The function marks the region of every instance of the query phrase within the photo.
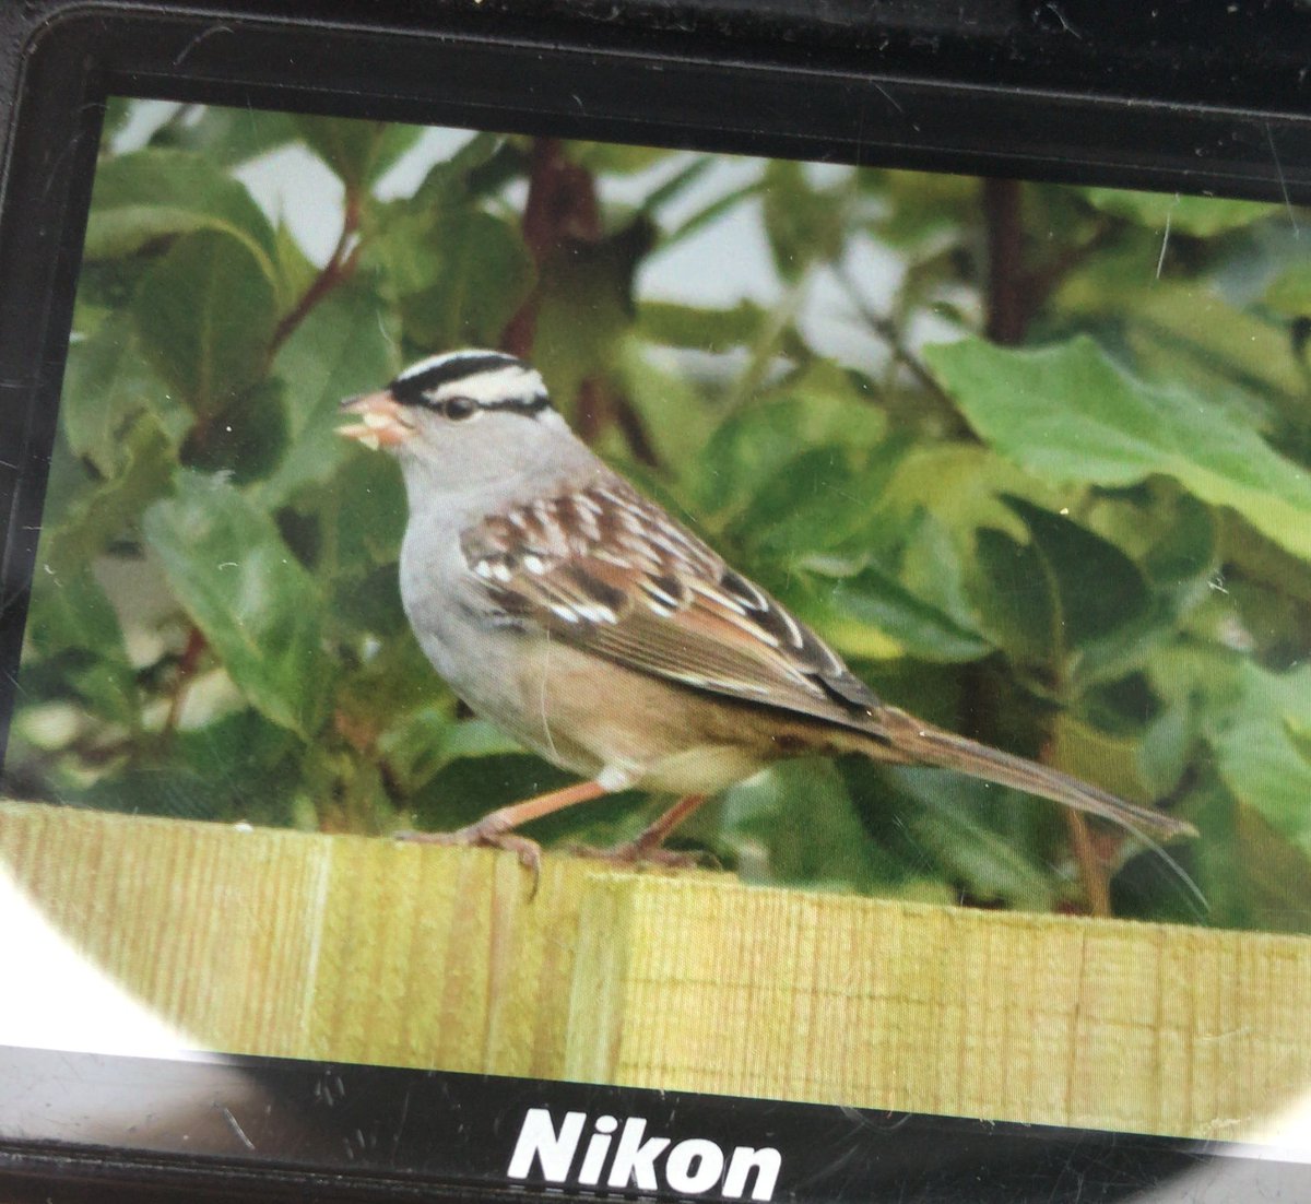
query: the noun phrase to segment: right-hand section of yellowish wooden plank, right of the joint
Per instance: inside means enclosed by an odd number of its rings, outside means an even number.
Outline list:
[[[1311,1082],[1311,940],[586,887],[569,1078],[1236,1138]]]

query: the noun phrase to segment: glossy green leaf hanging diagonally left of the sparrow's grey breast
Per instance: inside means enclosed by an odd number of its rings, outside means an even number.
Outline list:
[[[261,713],[313,733],[332,686],[317,584],[269,515],[222,479],[186,472],[143,521],[174,594]]]

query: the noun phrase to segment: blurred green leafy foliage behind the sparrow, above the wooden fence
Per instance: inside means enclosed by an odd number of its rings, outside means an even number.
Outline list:
[[[111,106],[7,792],[383,834],[561,784],[430,670],[399,473],[334,434],[410,359],[502,346],[884,696],[1202,833],[1171,864],[805,761],[684,845],[753,881],[1311,931],[1301,211],[490,134],[416,173],[427,136]],[[286,194],[333,230],[313,256],[246,182],[288,148],[330,172]],[[767,283],[721,303],[725,244]],[[603,845],[663,801],[528,830]]]

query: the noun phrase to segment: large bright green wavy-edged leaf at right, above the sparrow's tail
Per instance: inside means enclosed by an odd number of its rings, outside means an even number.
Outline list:
[[[974,429],[1023,468],[1100,485],[1171,476],[1311,557],[1303,468],[1201,397],[1129,376],[1092,340],[1041,350],[964,340],[924,355]]]

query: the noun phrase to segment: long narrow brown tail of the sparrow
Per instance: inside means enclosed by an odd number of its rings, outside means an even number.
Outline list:
[[[1197,835],[1197,829],[1185,820],[1126,803],[1108,791],[1062,774],[1061,770],[935,728],[895,707],[880,708],[871,727],[878,750],[867,748],[865,752],[878,759],[958,770],[1100,816],[1138,834],[1146,832],[1160,839]]]

